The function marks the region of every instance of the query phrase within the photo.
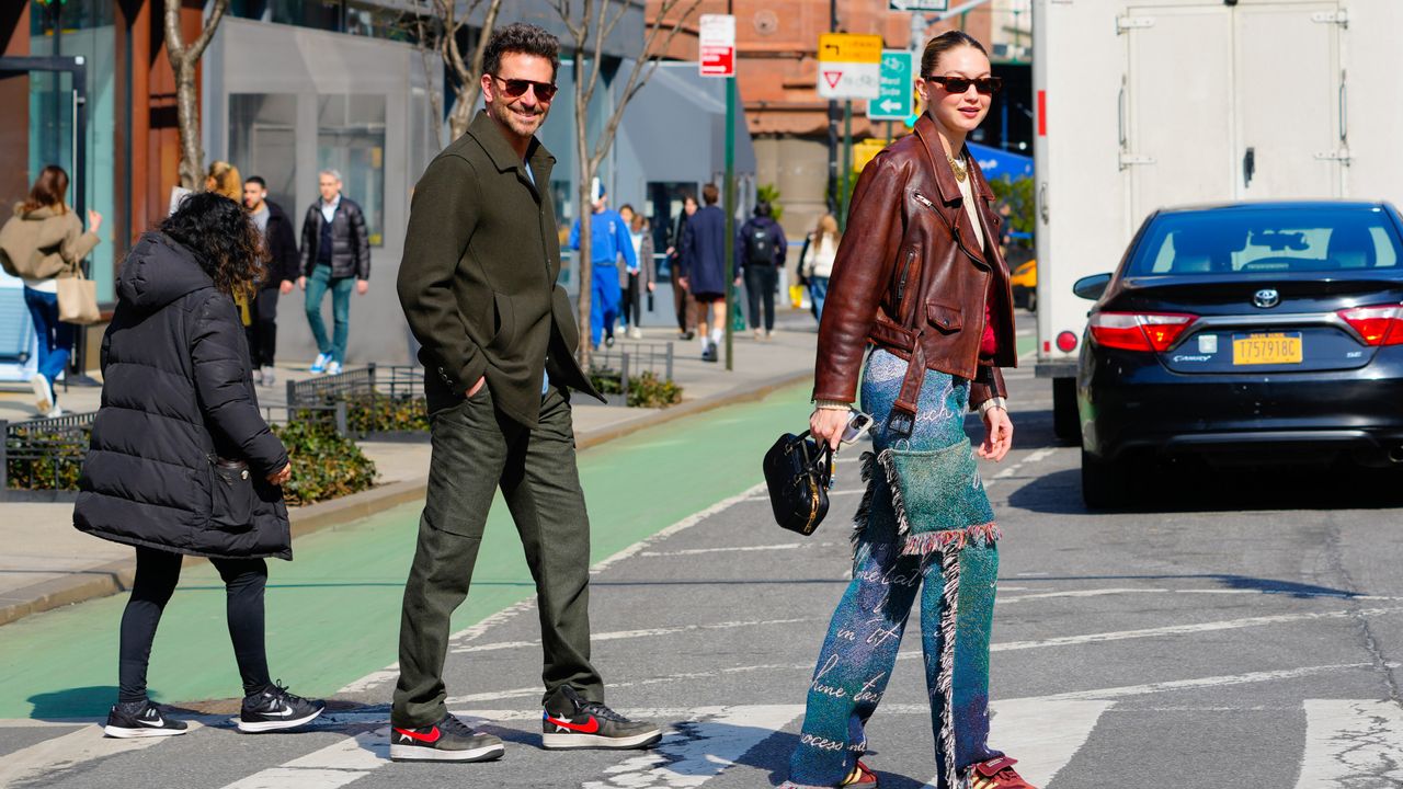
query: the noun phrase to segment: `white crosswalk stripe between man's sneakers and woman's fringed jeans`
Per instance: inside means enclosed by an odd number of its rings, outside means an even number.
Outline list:
[[[687,789],[716,778],[751,748],[804,713],[803,705],[738,706],[702,722],[683,723],[652,752],[605,771],[584,789]]]

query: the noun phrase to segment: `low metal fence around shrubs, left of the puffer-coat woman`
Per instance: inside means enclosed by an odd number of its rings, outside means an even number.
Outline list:
[[[3,421],[0,491],[14,498],[18,490],[77,490],[83,459],[97,411],[53,418]]]

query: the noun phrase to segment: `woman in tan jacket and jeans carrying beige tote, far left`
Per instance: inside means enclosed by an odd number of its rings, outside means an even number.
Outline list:
[[[4,270],[24,279],[24,303],[38,336],[38,371],[29,379],[35,410],[45,417],[63,416],[53,382],[73,354],[73,324],[59,320],[59,277],[81,275],[79,265],[98,244],[102,215],[88,211],[88,230],[63,202],[69,174],[49,164],[39,171],[29,198],[0,227],[0,260]],[[95,306],[95,302],[94,302]]]

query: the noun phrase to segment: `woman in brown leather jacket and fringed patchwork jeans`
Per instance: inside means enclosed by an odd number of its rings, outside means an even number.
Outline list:
[[[964,143],[999,80],[984,46],[958,31],[932,39],[920,65],[927,111],[863,170],[819,324],[810,428],[838,446],[861,372],[877,455],[863,456],[853,581],[819,653],[786,788],[877,786],[859,761],[864,727],[919,599],[936,785],[1031,789],[986,741],[999,531],[974,456],[1009,452],[999,366],[1016,352],[993,194]],[[967,409],[984,418],[978,451]]]

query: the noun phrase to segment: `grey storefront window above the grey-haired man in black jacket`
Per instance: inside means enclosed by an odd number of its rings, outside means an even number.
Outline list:
[[[341,194],[365,211],[370,244],[384,243],[384,97],[317,97],[317,168],[341,173]]]

